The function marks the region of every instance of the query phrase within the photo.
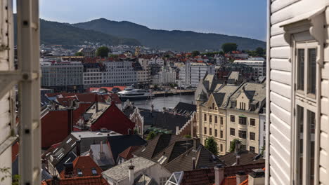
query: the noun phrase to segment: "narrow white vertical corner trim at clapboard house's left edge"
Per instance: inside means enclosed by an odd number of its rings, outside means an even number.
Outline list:
[[[271,0],[267,0],[267,32],[266,32],[266,160],[265,184],[269,184],[269,123],[270,123],[270,53],[271,53]]]

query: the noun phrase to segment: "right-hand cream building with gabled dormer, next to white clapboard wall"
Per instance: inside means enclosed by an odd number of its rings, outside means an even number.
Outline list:
[[[265,106],[265,88],[261,83],[243,83],[232,92],[226,107],[226,151],[233,139],[240,141],[242,149],[253,153],[262,151],[264,128],[259,114]]]

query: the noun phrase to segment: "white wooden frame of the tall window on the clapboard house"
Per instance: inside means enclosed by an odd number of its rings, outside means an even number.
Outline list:
[[[293,153],[293,180],[295,181],[295,184],[303,184],[307,185],[309,184],[310,181],[310,161],[305,160],[309,158],[309,151],[310,151],[310,146],[309,146],[309,123],[308,123],[308,111],[314,112],[315,114],[315,119],[316,119],[316,125],[315,125],[315,144],[314,144],[314,184],[318,184],[318,160],[319,160],[319,139],[316,139],[319,137],[319,124],[320,121],[318,120],[318,114],[319,112],[317,111],[317,101],[316,99],[316,94],[310,94],[307,93],[308,91],[308,83],[309,80],[307,78],[307,74],[309,73],[309,49],[315,48],[316,49],[316,57],[320,55],[320,50],[321,48],[319,47],[319,44],[314,41],[293,41],[294,42],[294,55],[292,62],[293,66],[293,71],[292,71],[292,76],[293,76],[293,82],[294,82],[294,90],[293,90],[293,97],[292,100],[294,100],[293,105],[294,105],[294,118],[293,118],[293,138],[292,138],[292,146],[294,146],[294,153]],[[304,90],[297,90],[297,69],[298,69],[298,49],[304,49]],[[321,70],[320,65],[318,62],[316,62],[316,91],[320,90],[318,87],[318,81],[321,80],[318,78],[319,70]],[[303,170],[302,170],[302,182],[299,181],[299,119],[297,118],[297,106],[303,108]]]

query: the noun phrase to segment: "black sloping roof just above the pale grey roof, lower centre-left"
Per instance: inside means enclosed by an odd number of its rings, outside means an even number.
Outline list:
[[[138,135],[117,135],[109,137],[108,144],[114,160],[117,160],[119,154],[129,146],[141,146],[146,144],[146,141]]]

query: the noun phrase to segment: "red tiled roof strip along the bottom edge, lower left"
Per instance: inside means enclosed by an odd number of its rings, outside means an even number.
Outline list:
[[[89,177],[72,177],[67,179],[58,179],[60,185],[108,185],[101,175]],[[42,181],[41,185],[51,185],[51,179]]]

